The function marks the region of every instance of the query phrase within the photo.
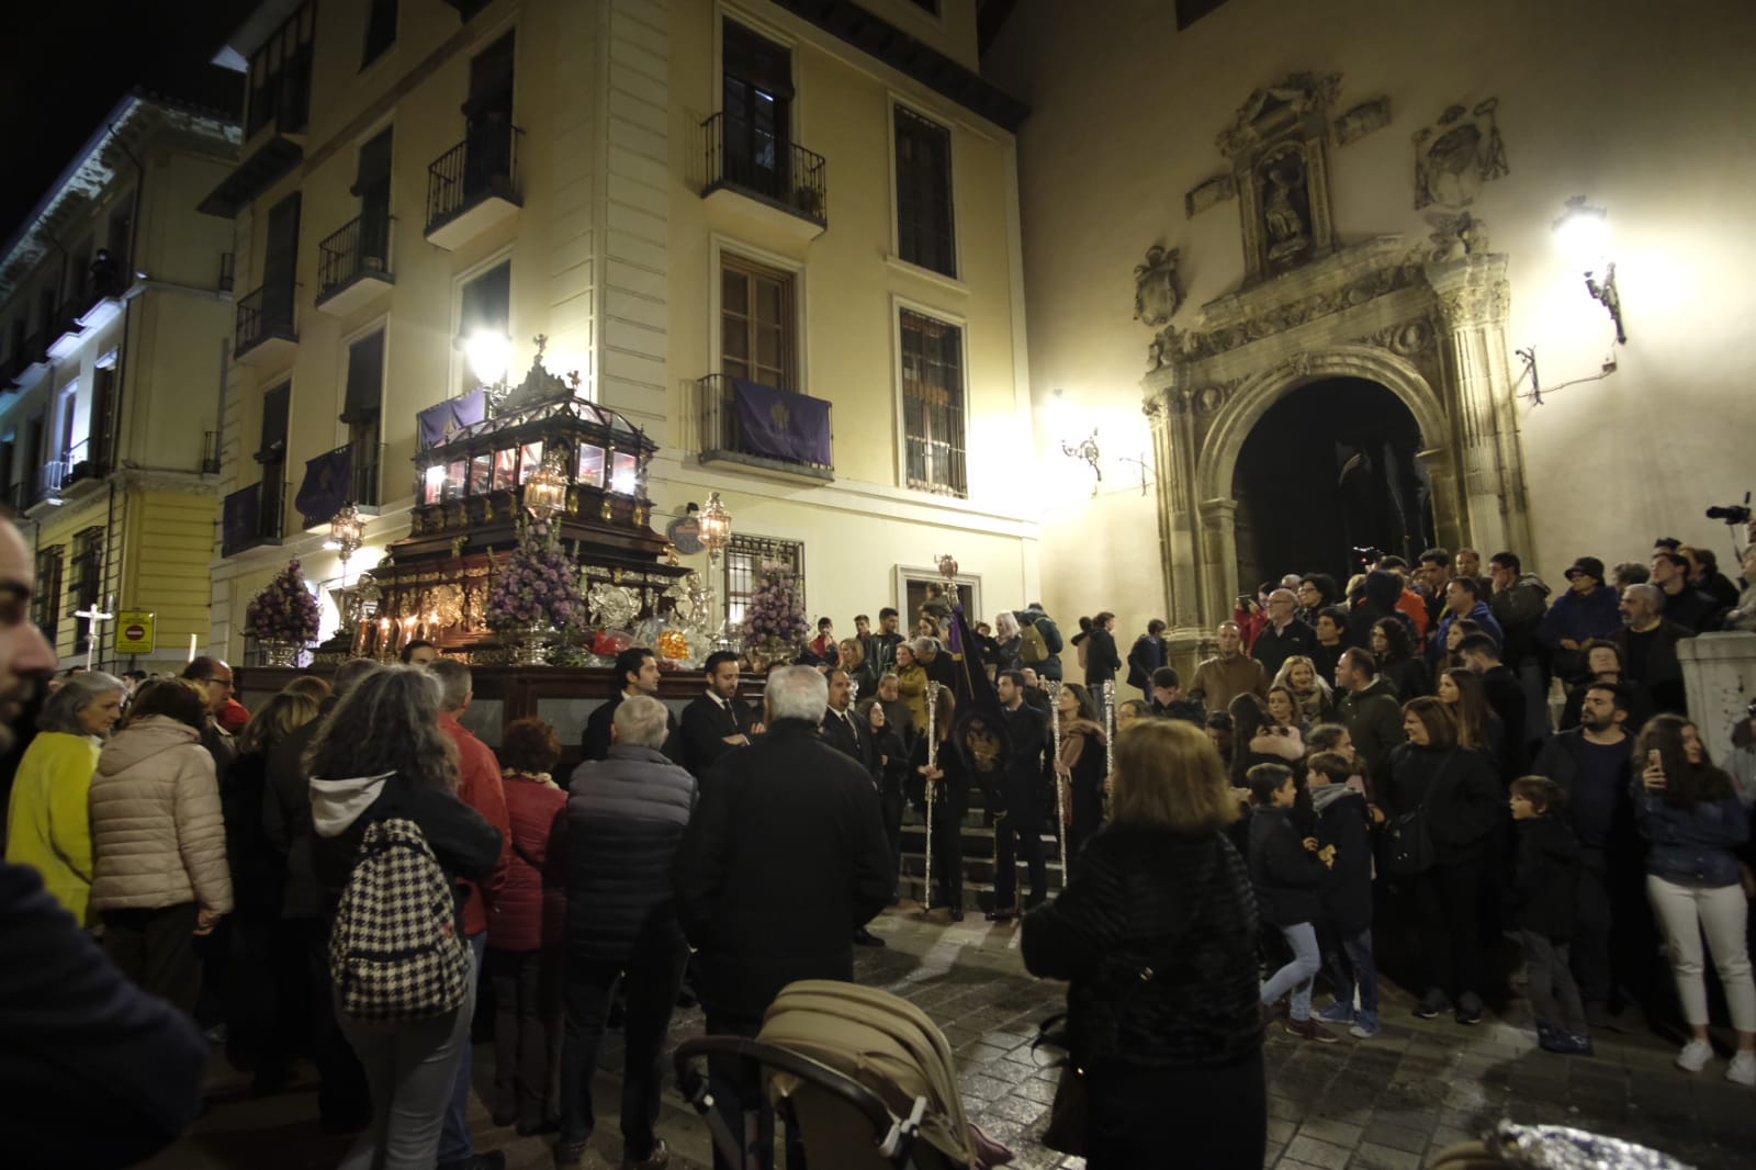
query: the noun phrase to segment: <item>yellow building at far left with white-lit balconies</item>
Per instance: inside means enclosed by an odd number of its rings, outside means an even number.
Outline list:
[[[232,234],[193,202],[241,132],[197,88],[123,97],[0,253],[0,490],[67,664],[169,668],[209,632]],[[149,638],[118,654],[93,611]]]

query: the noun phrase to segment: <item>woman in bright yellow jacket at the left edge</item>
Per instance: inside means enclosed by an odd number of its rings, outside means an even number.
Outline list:
[[[98,748],[121,717],[121,680],[72,675],[42,704],[40,731],[25,748],[7,806],[5,857],[33,866],[42,885],[88,926],[91,813],[88,796]]]

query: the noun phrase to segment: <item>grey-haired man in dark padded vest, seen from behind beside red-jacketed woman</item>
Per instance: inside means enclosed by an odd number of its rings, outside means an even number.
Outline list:
[[[736,662],[732,664],[736,671]],[[625,980],[623,1165],[662,1165],[658,1054],[683,986],[688,945],[671,864],[695,805],[695,778],[666,759],[667,711],[634,696],[616,706],[602,761],[572,773],[567,796],[567,1035],[560,1059],[562,1130],[555,1165],[585,1158],[592,1077],[616,984]]]

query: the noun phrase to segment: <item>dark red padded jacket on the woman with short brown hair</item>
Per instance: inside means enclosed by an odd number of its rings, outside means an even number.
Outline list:
[[[567,794],[520,773],[506,775],[506,813],[513,824],[513,863],[488,912],[488,945],[499,950],[560,947],[567,915],[565,882],[555,864],[567,819]]]

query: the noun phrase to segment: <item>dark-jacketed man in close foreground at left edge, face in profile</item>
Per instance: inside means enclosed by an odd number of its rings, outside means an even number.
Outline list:
[[[30,620],[32,590],[30,552],[0,518],[0,752],[54,669]],[[123,979],[30,866],[0,863],[0,954],[11,1161],[133,1165],[195,1121],[207,1065],[195,1021]]]

